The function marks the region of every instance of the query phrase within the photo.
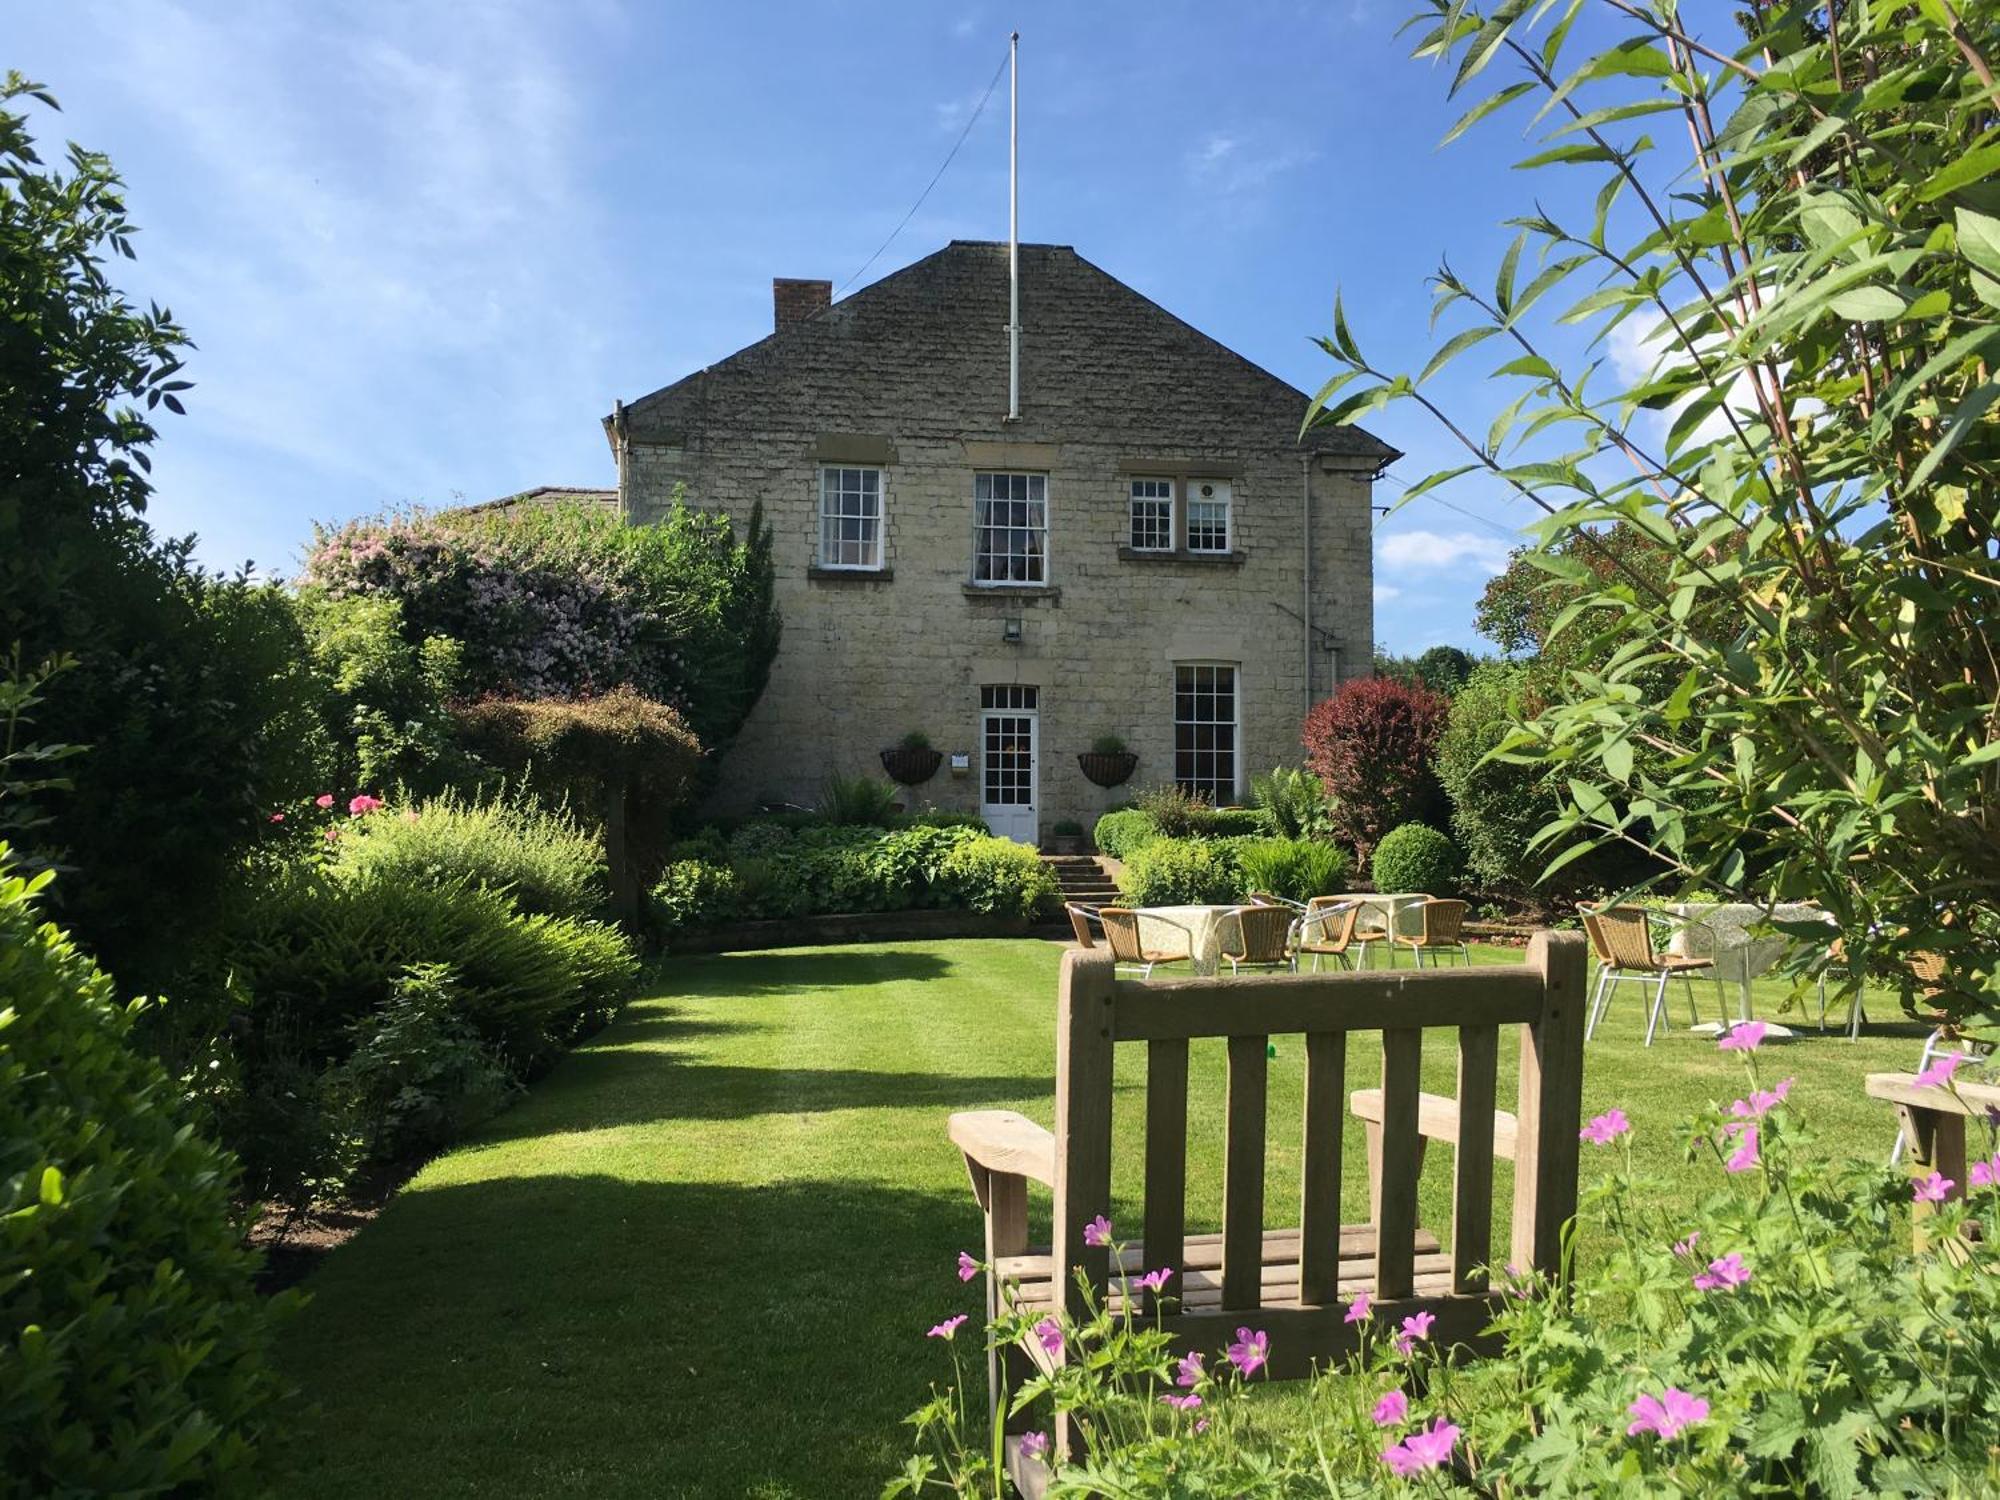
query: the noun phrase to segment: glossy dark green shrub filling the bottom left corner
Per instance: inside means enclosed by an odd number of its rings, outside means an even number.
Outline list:
[[[0,1490],[258,1494],[290,1302],[252,1288],[236,1164],[132,1046],[110,978],[0,844]]]

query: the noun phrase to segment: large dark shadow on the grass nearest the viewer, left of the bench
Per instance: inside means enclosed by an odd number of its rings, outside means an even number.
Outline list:
[[[502,1178],[406,1192],[310,1282],[280,1484],[312,1496],[852,1496],[978,1322],[970,1194]],[[960,1336],[984,1398],[976,1326]]]

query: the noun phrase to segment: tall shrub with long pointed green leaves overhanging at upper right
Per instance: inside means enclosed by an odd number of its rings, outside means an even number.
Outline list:
[[[1622,34],[1584,52],[1604,22]],[[1938,1002],[1990,1018],[2000,10],[1740,26],[1696,36],[1672,0],[1424,6],[1418,56],[1474,98],[1452,136],[1534,100],[1550,138],[1520,166],[1568,174],[1540,204],[1588,190],[1512,220],[1490,286],[1436,272],[1454,332],[1416,376],[1370,362],[1336,304],[1346,368],[1314,410],[1414,400],[1466,462],[1408,494],[1480,474],[1544,512],[1530,560],[1572,596],[1540,634],[1588,648],[1498,754],[1564,778],[1550,842],[1816,900],[1850,982],[1944,952]],[[1612,378],[1572,326],[1640,334],[1652,368]],[[1430,380],[1480,346],[1514,396],[1474,426]]]

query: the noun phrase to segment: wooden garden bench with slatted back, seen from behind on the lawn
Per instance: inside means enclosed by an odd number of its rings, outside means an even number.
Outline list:
[[[1272,1378],[1300,1378],[1348,1354],[1356,1330],[1346,1304],[1366,1290],[1378,1320],[1436,1316],[1432,1336],[1482,1344],[1494,1292],[1494,1158],[1514,1160],[1512,1254],[1522,1270],[1554,1274],[1562,1230],[1576,1210],[1576,1160],[1584,1056],[1584,938],[1540,932],[1524,966],[1278,974],[1266,978],[1122,980],[1104,950],[1062,958],[1056,1004],[1056,1128],[1010,1110],[954,1114],[950,1138],[964,1152],[986,1214],[988,1314],[1058,1302],[1084,1316],[1072,1268],[1118,1306],[1110,1250],[1084,1242],[1084,1226],[1112,1210],[1112,1066],[1120,1044],[1146,1046],[1144,1182],[1140,1234],[1120,1266],[1170,1266],[1162,1326],[1180,1352],[1218,1358],[1240,1324],[1270,1334]],[[1500,1028],[1520,1026],[1518,1118],[1494,1110]],[[1458,1098],[1418,1088],[1424,1032],[1452,1032]],[[1268,1228],[1264,1204],[1266,1044],[1304,1034],[1306,1100],[1296,1228]],[[1380,1088],[1352,1108],[1372,1136],[1376,1184],[1370,1222],[1342,1224],[1342,1124],[1350,1034],[1382,1038]],[[1220,1234],[1190,1234],[1188,1042],[1226,1038],[1224,1176]],[[1426,1136],[1454,1148],[1450,1244],[1416,1222],[1416,1172]],[[1054,1194],[1050,1244],[1030,1246],[1028,1182]],[[1154,1298],[1134,1292],[1152,1312]],[[1006,1368],[1002,1366],[1002,1358]],[[988,1360],[992,1400],[1020,1384],[1026,1362],[1048,1368],[1038,1340]],[[1008,1416],[1010,1470],[1040,1492],[1036,1466],[1018,1460],[1028,1418]],[[1074,1450],[1072,1418],[1056,1416],[1056,1442]]]

